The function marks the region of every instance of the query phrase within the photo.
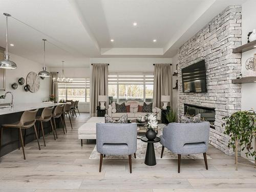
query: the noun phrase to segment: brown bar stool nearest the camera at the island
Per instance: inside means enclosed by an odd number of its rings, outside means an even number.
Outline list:
[[[20,142],[22,143],[22,150],[23,150],[23,156],[24,156],[24,160],[26,160],[26,156],[25,156],[25,150],[24,150],[24,143],[23,143],[23,136],[22,136],[22,129],[29,129],[30,127],[34,126],[34,131],[35,131],[35,137],[37,140],[37,144],[38,144],[38,148],[39,150],[41,150],[40,148],[40,144],[38,141],[38,137],[37,137],[37,131],[36,131],[36,127],[35,127],[35,116],[37,113],[37,110],[34,111],[25,111],[22,114],[22,117],[20,117],[20,120],[16,123],[11,123],[11,124],[3,124],[1,126],[1,136],[0,136],[0,146],[1,146],[1,141],[2,141],[2,133],[3,133],[3,128],[17,128],[19,130],[19,139]]]

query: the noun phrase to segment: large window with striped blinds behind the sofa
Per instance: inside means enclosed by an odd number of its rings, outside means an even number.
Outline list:
[[[153,101],[154,75],[152,73],[109,74],[109,99],[115,102],[136,100]]]

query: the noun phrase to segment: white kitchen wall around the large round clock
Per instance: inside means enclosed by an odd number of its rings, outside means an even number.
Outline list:
[[[6,70],[6,91],[1,91],[0,94],[4,95],[5,92],[11,91],[14,95],[14,104],[42,102],[42,100],[48,98],[49,78],[45,78],[44,80],[40,79],[40,89],[36,93],[25,92],[24,90],[28,73],[31,71],[38,73],[42,70],[42,65],[14,54],[10,54],[10,58],[16,63],[17,69]],[[25,84],[23,86],[18,86],[16,90],[13,90],[11,88],[11,84],[13,82],[16,82],[18,84],[18,79],[20,77],[23,77],[25,79]],[[9,94],[6,99],[0,99],[0,102],[2,103],[9,103],[10,101],[11,97]]]

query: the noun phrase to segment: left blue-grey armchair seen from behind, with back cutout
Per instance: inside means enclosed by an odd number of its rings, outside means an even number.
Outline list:
[[[128,155],[130,173],[132,173],[132,154],[136,158],[137,124],[136,123],[97,123],[96,145],[100,153],[99,172],[103,155]]]

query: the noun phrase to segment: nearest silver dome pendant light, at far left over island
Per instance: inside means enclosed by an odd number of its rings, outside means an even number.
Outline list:
[[[0,61],[0,68],[3,69],[16,69],[16,63],[10,61],[10,55],[8,55],[8,17],[11,16],[9,13],[4,13],[6,16],[6,53],[5,53],[5,60]]]

